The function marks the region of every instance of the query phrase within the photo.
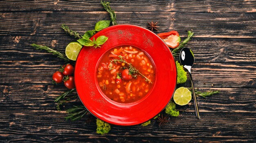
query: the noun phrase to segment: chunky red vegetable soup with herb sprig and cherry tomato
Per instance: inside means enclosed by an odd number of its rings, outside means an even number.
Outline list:
[[[97,79],[111,100],[132,103],[144,98],[155,82],[155,67],[148,55],[132,46],[113,48],[99,62]]]

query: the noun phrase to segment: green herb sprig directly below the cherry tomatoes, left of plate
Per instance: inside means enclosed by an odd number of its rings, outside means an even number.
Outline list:
[[[67,101],[70,101],[77,97],[77,94],[73,93],[74,91],[76,91],[76,89],[70,89],[55,99],[54,102],[57,102],[56,107],[57,107],[58,111],[61,110],[61,108],[60,108],[61,105],[65,104]]]

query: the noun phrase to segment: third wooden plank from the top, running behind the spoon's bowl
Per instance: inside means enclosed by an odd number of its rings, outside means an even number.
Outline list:
[[[184,38],[182,38],[184,39]],[[0,38],[0,60],[56,61],[61,59],[31,47],[31,43],[47,45],[65,53],[71,36],[4,36]],[[256,63],[255,39],[193,38],[188,45],[200,63]]]

